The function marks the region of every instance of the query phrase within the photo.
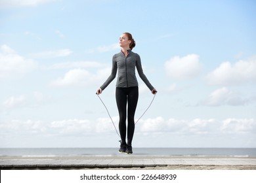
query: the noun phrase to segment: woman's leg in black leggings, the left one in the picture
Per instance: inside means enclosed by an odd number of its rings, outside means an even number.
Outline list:
[[[119,133],[122,143],[126,144],[126,105],[127,105],[127,88],[116,88],[116,104],[119,112]]]

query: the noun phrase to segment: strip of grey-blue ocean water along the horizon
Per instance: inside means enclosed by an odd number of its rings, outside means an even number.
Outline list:
[[[3,156],[125,156],[118,148],[0,148]],[[256,148],[133,148],[131,156],[256,157]]]

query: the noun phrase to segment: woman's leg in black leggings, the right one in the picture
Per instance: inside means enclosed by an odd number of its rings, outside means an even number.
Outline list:
[[[133,134],[135,131],[135,110],[137,108],[139,98],[139,88],[131,87],[129,88],[128,93],[128,127],[127,127],[127,145],[131,146],[131,142],[133,141]]]

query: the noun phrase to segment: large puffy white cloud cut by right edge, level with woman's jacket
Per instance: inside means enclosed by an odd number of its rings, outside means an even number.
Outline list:
[[[229,61],[221,63],[207,75],[209,84],[236,85],[256,81],[256,56],[240,60],[234,65]]]

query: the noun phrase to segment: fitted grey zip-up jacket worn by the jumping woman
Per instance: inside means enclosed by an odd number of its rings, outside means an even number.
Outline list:
[[[115,54],[112,59],[112,71],[111,75],[108,77],[106,82],[100,86],[102,90],[104,90],[114,78],[116,78],[116,73],[118,69],[118,76],[116,87],[120,88],[128,88],[133,86],[138,86],[138,81],[135,75],[135,67],[137,67],[137,71],[139,73],[140,78],[144,81],[146,86],[152,91],[154,87],[148,81],[148,78],[143,73],[142,65],[140,61],[139,54],[135,54],[131,50],[129,50],[129,54],[125,57],[123,52],[119,52]]]

